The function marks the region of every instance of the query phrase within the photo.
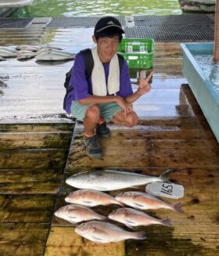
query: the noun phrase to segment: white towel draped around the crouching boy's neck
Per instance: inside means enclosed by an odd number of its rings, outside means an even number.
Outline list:
[[[120,90],[120,65],[117,53],[110,60],[109,76],[106,88],[106,78],[102,62],[99,60],[97,47],[92,49],[94,68],[92,70],[92,91],[93,95],[106,96],[117,93]]]

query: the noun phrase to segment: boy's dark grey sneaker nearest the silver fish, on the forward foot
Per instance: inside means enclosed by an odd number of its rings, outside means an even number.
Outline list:
[[[102,158],[103,152],[102,148],[100,148],[99,143],[97,142],[97,136],[93,137],[84,137],[84,144],[86,146],[86,151],[88,156],[92,158]]]

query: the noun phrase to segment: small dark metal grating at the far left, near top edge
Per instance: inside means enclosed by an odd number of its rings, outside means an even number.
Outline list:
[[[22,19],[0,19],[0,28],[26,28],[33,18],[22,18]]]

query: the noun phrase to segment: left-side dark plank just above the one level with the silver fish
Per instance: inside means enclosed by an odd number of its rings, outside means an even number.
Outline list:
[[[63,169],[68,150],[21,149],[0,151],[0,169]]]

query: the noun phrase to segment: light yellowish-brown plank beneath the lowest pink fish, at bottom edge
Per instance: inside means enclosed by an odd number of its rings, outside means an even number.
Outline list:
[[[78,236],[72,227],[52,227],[45,247],[45,256],[52,255],[124,256],[124,242],[92,243]]]

